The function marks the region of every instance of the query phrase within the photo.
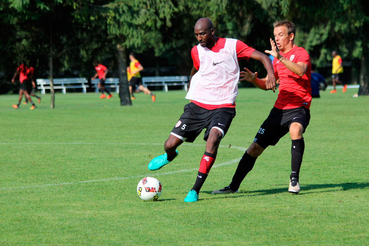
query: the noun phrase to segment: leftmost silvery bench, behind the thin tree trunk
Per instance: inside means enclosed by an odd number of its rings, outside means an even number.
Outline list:
[[[45,94],[45,90],[50,90],[50,79],[36,79],[37,89],[41,90],[41,94]],[[85,78],[62,78],[53,79],[54,90],[62,89],[62,93],[66,93],[66,89],[82,88],[82,92],[87,92],[87,80]]]

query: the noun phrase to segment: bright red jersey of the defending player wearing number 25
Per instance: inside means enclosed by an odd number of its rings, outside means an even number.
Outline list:
[[[289,70],[277,59],[273,59],[273,69],[276,79],[279,78],[279,93],[274,107],[279,109],[291,109],[304,106],[310,109],[311,104],[311,62],[307,51],[294,46],[289,52],[279,52],[285,59],[294,63],[303,62],[307,64],[306,73],[299,76]]]

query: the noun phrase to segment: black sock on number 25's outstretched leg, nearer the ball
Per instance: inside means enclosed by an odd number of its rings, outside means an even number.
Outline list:
[[[254,167],[255,161],[258,157],[252,157],[247,152],[242,156],[238,163],[236,172],[233,175],[232,182],[230,183],[230,188],[232,191],[237,191],[242,180],[245,179],[246,174],[251,171]]]

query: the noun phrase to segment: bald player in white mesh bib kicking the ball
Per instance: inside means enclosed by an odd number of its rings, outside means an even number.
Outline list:
[[[193,142],[203,129],[206,148],[192,189],[185,202],[199,199],[199,191],[215,162],[218,146],[236,115],[235,99],[238,94],[239,59],[256,59],[268,72],[265,86],[274,91],[275,76],[268,56],[243,42],[231,38],[218,38],[213,23],[200,18],[194,27],[199,44],[191,50],[193,67],[184,112],[164,143],[165,153],[148,164],[149,170],[158,170],[177,155],[177,147],[183,142]]]

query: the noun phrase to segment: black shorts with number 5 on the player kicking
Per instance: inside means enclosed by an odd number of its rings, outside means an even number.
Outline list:
[[[209,132],[212,128],[221,131],[224,137],[231,125],[232,119],[236,115],[235,108],[207,110],[194,103],[186,104],[183,111],[183,114],[170,134],[190,143],[192,143],[205,128],[205,141],[207,141]]]

